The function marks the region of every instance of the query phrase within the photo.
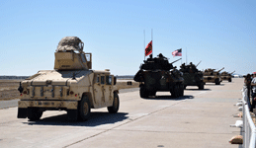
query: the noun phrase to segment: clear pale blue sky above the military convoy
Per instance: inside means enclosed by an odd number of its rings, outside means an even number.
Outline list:
[[[153,29],[153,56],[183,49],[199,69],[256,71],[255,0],[43,0],[0,2],[0,75],[52,70],[62,37],[76,36],[93,69],[134,75]],[[179,67],[181,61],[176,62]]]

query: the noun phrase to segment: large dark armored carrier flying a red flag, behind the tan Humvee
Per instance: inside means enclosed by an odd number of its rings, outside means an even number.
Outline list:
[[[169,63],[168,59],[161,53],[154,58],[151,54],[147,60],[144,60],[133,78],[134,81],[140,82],[139,94],[141,98],[155,96],[158,91],[169,91],[175,98],[183,96],[184,79],[182,73],[173,67],[174,62]]]

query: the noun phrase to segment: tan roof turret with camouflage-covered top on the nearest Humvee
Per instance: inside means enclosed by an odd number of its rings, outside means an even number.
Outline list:
[[[92,54],[83,51],[79,37],[63,37],[55,52],[55,70],[86,70],[92,68]]]

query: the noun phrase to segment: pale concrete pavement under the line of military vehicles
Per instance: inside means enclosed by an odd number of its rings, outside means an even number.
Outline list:
[[[140,99],[138,91],[120,94],[117,114],[92,110],[85,122],[66,121],[65,111],[45,111],[40,121],[16,118],[17,108],[0,110],[0,147],[175,147],[237,148],[228,140],[240,134],[229,127],[239,118],[233,105],[241,98],[243,79],[207,84],[206,90],[188,87],[172,99],[157,93]]]

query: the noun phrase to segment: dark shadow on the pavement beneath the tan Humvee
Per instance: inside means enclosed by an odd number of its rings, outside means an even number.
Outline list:
[[[38,121],[23,122],[29,125],[67,125],[67,126],[98,126],[102,124],[113,124],[128,118],[127,112],[109,113],[109,112],[91,112],[87,121],[69,121],[67,113],[44,117]]]

